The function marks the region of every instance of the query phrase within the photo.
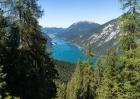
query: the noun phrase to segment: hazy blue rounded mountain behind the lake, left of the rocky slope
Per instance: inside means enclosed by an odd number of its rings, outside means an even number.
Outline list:
[[[99,26],[100,24],[98,23],[81,21],[72,24],[70,27],[65,29],[63,33],[57,34],[57,36],[65,38],[67,41],[78,40],[79,36],[80,38],[83,38],[87,35],[87,31],[92,31]]]

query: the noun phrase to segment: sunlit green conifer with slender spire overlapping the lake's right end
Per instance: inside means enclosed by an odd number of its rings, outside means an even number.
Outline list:
[[[94,70],[90,47],[87,47],[87,60],[80,61],[67,84],[66,99],[94,99]],[[89,53],[90,52],[90,53]]]

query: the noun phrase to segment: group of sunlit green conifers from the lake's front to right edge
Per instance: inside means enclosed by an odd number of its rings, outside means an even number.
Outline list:
[[[120,17],[121,35],[119,51],[108,51],[106,56],[91,68],[93,52],[85,50],[87,61],[79,62],[67,84],[66,93],[61,86],[62,99],[139,99],[140,98],[140,47],[139,0],[121,0],[126,12]],[[62,93],[62,94],[61,94]],[[92,93],[92,94],[91,94]]]

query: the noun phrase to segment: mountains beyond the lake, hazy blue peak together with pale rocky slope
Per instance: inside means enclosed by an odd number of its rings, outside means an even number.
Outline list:
[[[96,55],[100,56],[107,49],[116,45],[119,26],[117,19],[111,20],[103,25],[87,22],[86,25],[75,23],[62,34],[58,34],[58,36],[82,48],[85,47],[85,44],[90,43]]]

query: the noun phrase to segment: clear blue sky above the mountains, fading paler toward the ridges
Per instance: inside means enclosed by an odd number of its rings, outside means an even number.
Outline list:
[[[119,0],[39,0],[43,27],[67,28],[79,21],[104,24],[122,14]]]

